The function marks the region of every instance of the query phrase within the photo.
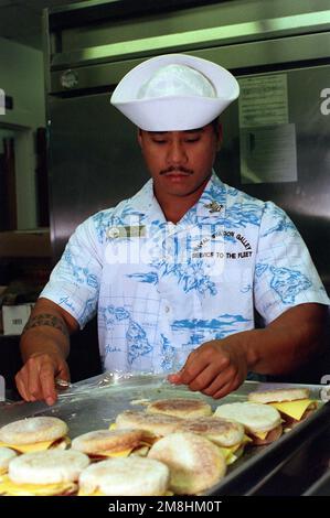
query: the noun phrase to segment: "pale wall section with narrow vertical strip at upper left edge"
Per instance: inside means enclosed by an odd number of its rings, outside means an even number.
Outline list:
[[[43,53],[0,37],[0,89],[13,98],[13,109],[0,115],[0,128],[15,130],[18,228],[34,228],[34,132],[45,126]]]

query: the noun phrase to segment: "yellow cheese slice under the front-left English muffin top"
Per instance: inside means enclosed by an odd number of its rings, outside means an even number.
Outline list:
[[[0,481],[0,495],[10,496],[53,496],[73,493],[76,490],[74,483],[61,484],[14,484],[8,476],[3,476]]]

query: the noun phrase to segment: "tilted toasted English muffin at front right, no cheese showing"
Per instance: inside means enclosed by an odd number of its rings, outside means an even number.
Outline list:
[[[220,449],[207,439],[190,432],[171,433],[153,444],[148,458],[170,470],[170,490],[195,495],[216,484],[226,472]]]

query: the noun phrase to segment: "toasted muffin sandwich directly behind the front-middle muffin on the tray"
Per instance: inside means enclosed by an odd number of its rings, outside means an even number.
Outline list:
[[[75,438],[72,449],[86,453],[94,461],[127,457],[134,452],[140,452],[142,447],[150,447],[150,439],[148,432],[138,429],[95,430]]]

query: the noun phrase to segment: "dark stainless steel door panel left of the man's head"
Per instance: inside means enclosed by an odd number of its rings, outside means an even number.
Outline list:
[[[57,259],[76,226],[134,195],[148,180],[137,130],[109,95],[51,99],[51,228]]]

